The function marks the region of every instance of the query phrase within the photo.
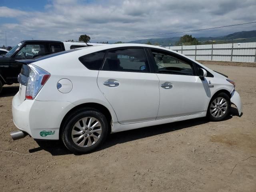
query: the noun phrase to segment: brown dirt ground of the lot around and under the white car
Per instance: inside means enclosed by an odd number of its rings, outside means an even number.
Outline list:
[[[236,82],[241,117],[232,108],[222,122],[199,118],[120,132],[84,155],[56,141],[12,141],[11,102],[18,85],[5,86],[0,150],[22,154],[0,152],[0,191],[256,192],[256,68],[208,67]]]

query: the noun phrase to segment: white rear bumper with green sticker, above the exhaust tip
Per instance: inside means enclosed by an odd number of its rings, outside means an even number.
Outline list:
[[[74,107],[70,102],[12,99],[15,126],[34,139],[58,140],[62,119]]]

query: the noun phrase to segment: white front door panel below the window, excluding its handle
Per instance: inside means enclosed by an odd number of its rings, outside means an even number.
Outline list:
[[[160,90],[160,105],[157,119],[199,114],[205,111],[208,84],[198,76],[157,74]],[[161,84],[170,82],[172,88]],[[196,91],[194,91],[196,90]]]

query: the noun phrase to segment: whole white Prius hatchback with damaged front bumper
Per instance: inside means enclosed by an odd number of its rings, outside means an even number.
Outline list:
[[[109,132],[205,116],[220,121],[232,103],[242,113],[232,80],[158,46],[112,44],[19,62],[14,140],[60,139],[70,151],[87,153]]]

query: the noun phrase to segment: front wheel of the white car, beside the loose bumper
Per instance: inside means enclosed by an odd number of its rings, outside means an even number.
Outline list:
[[[226,93],[214,96],[208,106],[208,117],[210,121],[222,121],[230,113],[230,97]]]

